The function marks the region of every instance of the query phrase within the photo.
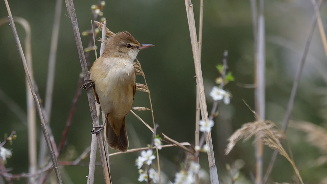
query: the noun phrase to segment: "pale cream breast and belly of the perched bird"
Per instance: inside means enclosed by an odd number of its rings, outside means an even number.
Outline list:
[[[99,58],[90,72],[102,111],[116,118],[126,116],[134,99],[135,71],[132,62],[120,58]]]

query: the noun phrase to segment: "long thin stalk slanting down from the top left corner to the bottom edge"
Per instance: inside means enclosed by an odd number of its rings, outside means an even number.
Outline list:
[[[18,37],[18,34],[17,34],[17,30],[16,30],[16,26],[15,26],[14,20],[12,18],[11,11],[10,11],[9,4],[8,4],[7,0],[5,0],[5,4],[6,4],[7,10],[8,10],[9,22],[10,22],[12,31],[14,33],[14,37],[15,37],[17,46],[18,46],[18,51],[19,51],[20,57],[21,57],[22,62],[23,62],[26,78],[27,78],[30,90],[31,90],[31,92],[33,94],[34,103],[36,105],[36,109],[37,109],[37,112],[38,112],[40,120],[41,120],[41,128],[42,128],[42,131],[43,131],[43,135],[44,135],[44,138],[46,140],[46,143],[47,143],[47,146],[48,146],[48,149],[49,149],[49,152],[50,152],[50,157],[51,157],[52,163],[54,165],[54,170],[55,170],[55,173],[56,173],[56,176],[57,176],[58,183],[61,184],[62,180],[61,180],[60,172],[59,172],[59,169],[58,169],[57,158],[56,158],[56,155],[55,155],[55,153],[53,151],[53,147],[52,147],[48,132],[47,132],[46,127],[45,127],[45,123],[44,123],[40,103],[39,103],[38,97],[35,94],[34,85],[32,84],[32,79],[31,79],[31,76],[30,76],[28,68],[27,68],[27,63],[26,63],[26,59],[25,59],[24,52],[23,52],[23,49],[22,49],[22,45],[20,43],[20,40],[19,40],[19,37]]]

